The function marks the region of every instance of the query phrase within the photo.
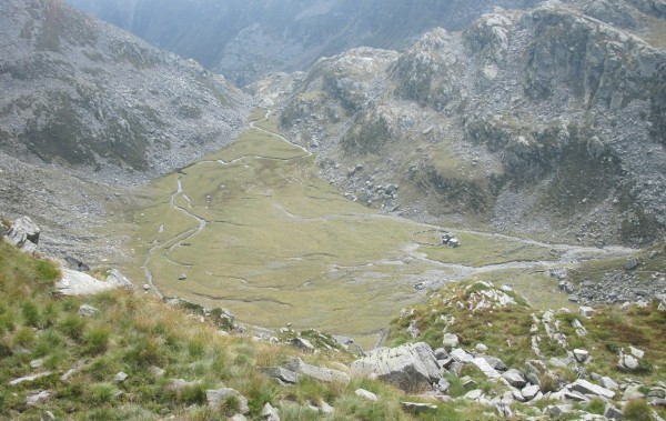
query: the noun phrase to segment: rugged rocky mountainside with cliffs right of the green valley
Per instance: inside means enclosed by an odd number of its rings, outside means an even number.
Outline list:
[[[404,52],[354,49],[254,89],[355,200],[416,219],[644,244],[666,223],[658,4],[497,11]]]

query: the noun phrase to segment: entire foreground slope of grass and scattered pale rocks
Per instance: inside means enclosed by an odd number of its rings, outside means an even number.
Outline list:
[[[114,270],[63,269],[26,252],[39,242],[33,223],[9,225],[0,238],[23,251],[0,241],[4,419],[665,417],[666,295],[541,312],[507,285],[456,283],[393,320],[393,348],[366,353],[351,338],[163,302]]]

